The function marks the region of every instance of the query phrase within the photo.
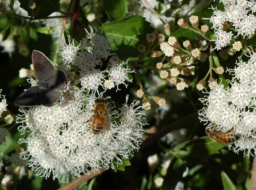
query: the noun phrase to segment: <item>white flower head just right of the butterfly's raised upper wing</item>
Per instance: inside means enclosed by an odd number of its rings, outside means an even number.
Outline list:
[[[68,36],[68,44],[66,43],[63,44],[62,42],[61,44],[63,45],[63,47],[60,48],[60,50],[62,51],[58,53],[62,56],[63,62],[65,64],[76,65],[76,59],[78,57],[78,51],[80,51],[81,43],[78,46],[76,46],[74,39],[71,42],[70,36]]]

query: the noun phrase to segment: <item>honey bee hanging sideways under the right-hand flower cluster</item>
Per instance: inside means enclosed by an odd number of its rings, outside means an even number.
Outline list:
[[[234,143],[235,141],[241,138],[240,134],[230,133],[231,131],[233,131],[234,127],[232,127],[226,133],[217,131],[215,127],[216,125],[214,125],[213,130],[206,129],[205,133],[209,136],[210,139],[212,139],[213,141],[217,141],[218,143],[224,146]]]

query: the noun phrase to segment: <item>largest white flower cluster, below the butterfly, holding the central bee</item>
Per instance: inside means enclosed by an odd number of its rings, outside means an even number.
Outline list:
[[[27,139],[20,139],[20,143],[27,143],[27,150],[21,156],[28,159],[28,166],[37,175],[47,178],[52,173],[53,179],[67,183],[69,174],[79,177],[90,170],[114,168],[139,149],[142,127],[146,124],[144,112],[139,111],[139,101],[128,105],[127,97],[120,111],[107,103],[110,130],[93,134],[89,120],[95,99],[73,92],[61,106],[29,110],[20,107],[23,115],[17,119],[21,123],[19,130],[31,131]]]

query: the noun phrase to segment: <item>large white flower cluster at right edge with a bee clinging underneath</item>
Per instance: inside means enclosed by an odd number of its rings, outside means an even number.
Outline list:
[[[205,107],[199,111],[201,121],[208,125],[206,129],[240,135],[234,152],[244,151],[245,155],[252,154],[252,150],[256,153],[256,53],[247,50],[249,61],[240,57],[237,67],[228,70],[233,74],[228,81],[231,87],[210,83],[209,95],[200,99]]]

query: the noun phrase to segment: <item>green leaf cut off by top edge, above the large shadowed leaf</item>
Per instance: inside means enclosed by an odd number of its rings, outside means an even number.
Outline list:
[[[125,18],[128,13],[127,0],[103,0],[103,4],[110,21]]]

